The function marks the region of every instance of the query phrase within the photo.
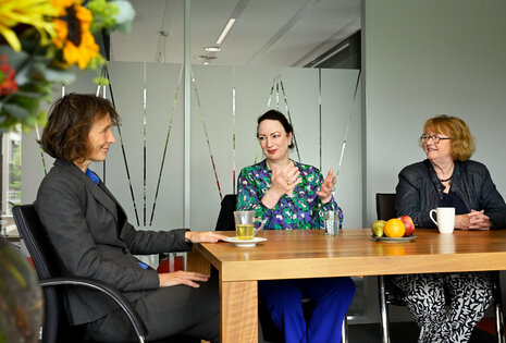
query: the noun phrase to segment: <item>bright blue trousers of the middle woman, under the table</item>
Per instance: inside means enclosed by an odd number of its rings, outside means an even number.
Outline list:
[[[303,295],[314,309],[309,322],[303,314]],[[286,343],[338,343],[344,316],[355,295],[350,278],[272,280],[258,283],[262,299]]]

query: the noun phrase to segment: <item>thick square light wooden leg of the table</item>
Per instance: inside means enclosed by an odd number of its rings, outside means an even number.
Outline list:
[[[221,342],[258,342],[257,281],[220,282]]]

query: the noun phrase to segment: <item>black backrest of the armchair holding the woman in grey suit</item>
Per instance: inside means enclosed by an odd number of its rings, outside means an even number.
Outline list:
[[[34,261],[39,279],[61,277],[58,268],[60,262],[55,259],[55,254],[34,205],[14,206],[12,216],[26,249]],[[62,296],[62,294],[58,294],[59,292],[62,293],[63,290],[44,287],[44,342],[57,342],[59,330],[62,331],[64,330],[63,327],[69,327],[63,304],[59,301],[59,296]]]

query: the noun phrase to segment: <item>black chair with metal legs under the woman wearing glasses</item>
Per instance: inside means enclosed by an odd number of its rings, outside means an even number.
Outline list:
[[[396,218],[395,193],[377,193],[378,220]],[[504,335],[503,302],[501,295],[499,273],[492,272],[495,327],[497,342],[506,343]],[[400,290],[391,281],[392,277],[378,277],[378,292],[380,293],[381,335],[383,343],[390,343],[388,305],[406,306]],[[448,297],[447,297],[448,298]]]

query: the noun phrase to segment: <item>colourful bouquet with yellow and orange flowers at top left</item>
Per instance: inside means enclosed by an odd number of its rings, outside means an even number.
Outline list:
[[[45,124],[39,103],[51,101],[52,85],[106,63],[94,34],[127,33],[134,16],[125,0],[0,0],[0,133]]]

